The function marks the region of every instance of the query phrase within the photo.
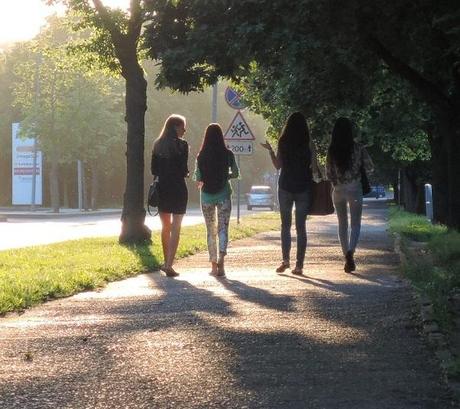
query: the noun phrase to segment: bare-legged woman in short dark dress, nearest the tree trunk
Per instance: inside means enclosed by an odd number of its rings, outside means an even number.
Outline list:
[[[153,145],[151,170],[159,181],[158,211],[161,220],[161,244],[164,265],[161,269],[168,277],[178,275],[172,265],[179,244],[182,218],[187,208],[188,144],[182,138],[185,118],[171,115]]]

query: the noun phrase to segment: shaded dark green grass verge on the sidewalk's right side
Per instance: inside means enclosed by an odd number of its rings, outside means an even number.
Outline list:
[[[390,209],[390,230],[401,236],[407,259],[404,274],[430,299],[436,320],[449,331],[453,324],[449,298],[460,291],[460,233],[396,207]]]

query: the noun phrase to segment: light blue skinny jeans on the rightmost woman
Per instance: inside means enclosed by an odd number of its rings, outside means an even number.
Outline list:
[[[338,219],[338,236],[343,255],[355,252],[361,231],[363,211],[363,190],[360,181],[334,186],[332,194]],[[348,208],[350,209],[350,229],[348,228]]]

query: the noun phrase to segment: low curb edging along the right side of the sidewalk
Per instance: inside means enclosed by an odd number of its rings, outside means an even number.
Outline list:
[[[398,233],[393,234],[395,236],[394,250],[399,256],[401,266],[405,266],[408,264],[408,259],[401,248],[401,236]],[[460,381],[451,379],[448,375],[448,369],[455,362],[456,354],[451,350],[448,337],[441,331],[438,322],[434,318],[433,304],[431,303],[431,300],[428,296],[419,294],[416,288],[412,285],[412,282],[410,280],[407,281],[415,291],[415,298],[418,304],[423,335],[434,351],[448,388],[454,395],[455,399],[460,400]]]

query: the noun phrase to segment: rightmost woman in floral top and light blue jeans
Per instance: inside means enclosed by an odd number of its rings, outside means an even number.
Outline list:
[[[348,118],[337,119],[332,131],[331,144],[326,158],[327,177],[334,186],[332,200],[338,218],[338,235],[343,255],[344,270],[356,270],[354,253],[361,230],[363,190],[361,168],[366,173],[374,171],[374,165],[366,149],[353,140],[353,125]],[[350,232],[348,208],[350,207]]]

